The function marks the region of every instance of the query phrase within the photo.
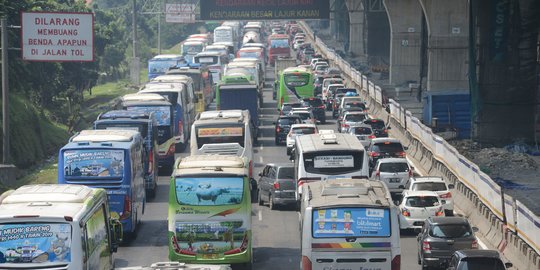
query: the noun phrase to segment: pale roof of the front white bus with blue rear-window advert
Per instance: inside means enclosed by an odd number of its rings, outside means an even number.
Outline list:
[[[386,186],[368,179],[338,178],[307,183],[312,207],[363,205],[390,207],[393,202]]]

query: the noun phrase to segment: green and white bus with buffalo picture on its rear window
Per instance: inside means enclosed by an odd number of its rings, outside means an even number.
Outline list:
[[[169,260],[251,268],[251,182],[245,162],[225,155],[177,160],[169,190]]]

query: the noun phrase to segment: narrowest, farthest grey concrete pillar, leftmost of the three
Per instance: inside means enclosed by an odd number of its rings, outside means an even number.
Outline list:
[[[364,6],[357,0],[347,0],[347,9],[349,10],[349,52],[356,56],[365,56],[364,48]]]

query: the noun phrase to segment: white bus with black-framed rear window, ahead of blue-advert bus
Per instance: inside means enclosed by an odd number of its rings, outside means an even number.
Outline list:
[[[296,199],[305,183],[335,179],[369,177],[369,159],[362,143],[352,134],[328,133],[297,136],[294,146]]]

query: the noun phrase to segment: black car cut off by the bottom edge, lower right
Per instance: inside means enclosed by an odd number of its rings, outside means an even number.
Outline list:
[[[467,249],[454,252],[446,270],[506,270],[512,263],[503,263],[499,251],[489,249]]]

